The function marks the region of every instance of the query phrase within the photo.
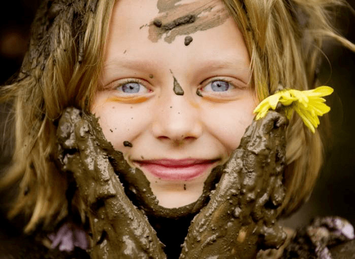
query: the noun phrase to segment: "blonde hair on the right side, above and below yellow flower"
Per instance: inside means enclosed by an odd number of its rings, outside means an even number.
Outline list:
[[[316,69],[325,38],[355,51],[355,45],[331,26],[332,8],[342,0],[224,0],[244,35],[253,84],[260,100],[280,86],[298,90],[318,86]],[[334,10],[333,10],[334,11]],[[286,132],[286,197],[279,213],[287,215],[305,202],[323,157],[319,132],[312,134],[296,114]]]

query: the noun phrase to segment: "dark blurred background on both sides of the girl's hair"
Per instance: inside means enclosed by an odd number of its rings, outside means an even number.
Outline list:
[[[40,0],[10,0],[6,1],[7,7],[0,9],[0,85],[6,84],[21,65],[29,26],[39,3]],[[355,7],[355,0],[348,3]],[[341,9],[335,22],[339,31],[355,43],[354,17]],[[329,146],[325,150],[326,161],[309,202],[284,220],[291,227],[304,226],[316,215],[343,216],[355,225],[355,55],[332,42],[325,44],[324,51],[328,60],[322,63],[320,81],[335,89],[328,98],[332,137],[325,139]],[[4,130],[10,129],[6,124],[8,109],[0,106],[0,171],[10,160],[12,143],[3,137]],[[1,211],[6,204],[2,198],[0,201]],[[0,212],[0,221],[2,216]]]

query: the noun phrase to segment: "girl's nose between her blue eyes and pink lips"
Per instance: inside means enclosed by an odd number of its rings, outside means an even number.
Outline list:
[[[152,126],[155,138],[181,143],[202,135],[199,108],[187,96],[172,93],[160,99]]]

